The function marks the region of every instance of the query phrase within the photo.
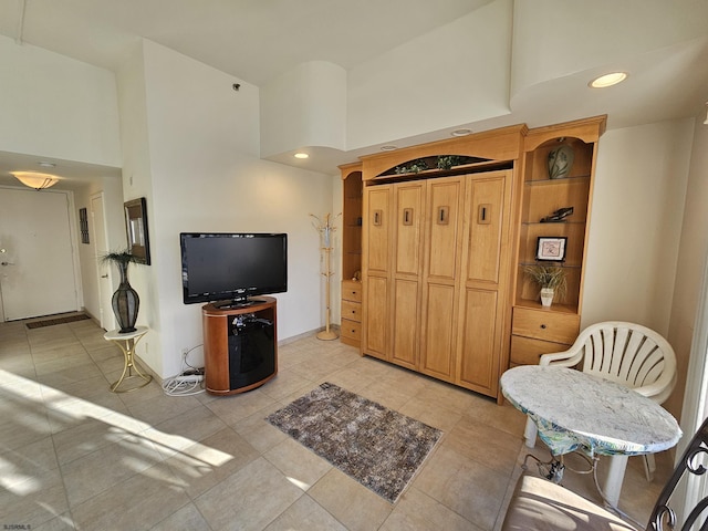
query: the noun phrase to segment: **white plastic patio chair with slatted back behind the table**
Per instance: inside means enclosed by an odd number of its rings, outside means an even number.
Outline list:
[[[543,354],[539,365],[577,367],[602,378],[626,385],[663,404],[676,385],[676,355],[668,342],[639,324],[606,321],[586,327],[564,352]],[[527,446],[535,446],[537,428],[527,419]],[[644,456],[647,480],[656,465],[654,456]]]

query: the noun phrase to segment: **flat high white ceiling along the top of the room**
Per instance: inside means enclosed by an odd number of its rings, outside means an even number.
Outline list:
[[[490,1],[3,0],[0,33],[108,70],[144,37],[262,85],[305,61],[351,69]]]

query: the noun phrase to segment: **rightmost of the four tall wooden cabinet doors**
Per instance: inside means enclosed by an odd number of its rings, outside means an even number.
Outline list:
[[[473,176],[467,185],[456,383],[496,396],[509,284],[511,173]]]

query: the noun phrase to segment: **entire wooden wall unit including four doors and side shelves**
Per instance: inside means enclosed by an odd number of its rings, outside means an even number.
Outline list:
[[[343,167],[343,178],[353,169],[358,178],[361,170],[361,200],[354,205],[362,209],[361,233],[353,247],[361,238],[362,282],[345,287],[356,296],[343,295],[342,306],[356,316],[343,310],[342,322],[356,332],[362,355],[500,399],[499,377],[512,348],[527,347],[529,335],[540,345],[539,335],[523,329],[527,313],[540,320],[530,326],[572,321],[563,343],[577,335],[603,125],[604,117],[532,131],[504,127],[364,156],[355,167]],[[579,164],[568,179],[545,185],[542,167],[559,140],[575,148]],[[544,190],[553,190],[554,199]],[[571,299],[543,309],[522,270],[535,238],[550,228],[540,229],[534,218],[559,201],[580,214],[551,231],[569,232]]]

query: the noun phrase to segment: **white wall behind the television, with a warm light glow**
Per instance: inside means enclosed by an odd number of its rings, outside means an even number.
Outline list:
[[[149,41],[124,72],[122,98],[124,90],[134,96],[122,100],[122,113],[137,113],[129,124],[148,137],[144,145],[124,143],[133,152],[125,194],[147,198],[153,257],[152,266],[131,273],[147,301],[139,319],[153,330],[142,352],[138,345],[140,357],[167,377],[180,371],[183,348],[202,343],[201,306],[181,301],[180,231],[287,232],[289,291],[278,295],[279,340],[319,330],[319,241],[309,214],[331,211],[332,178],[258,158],[254,86]],[[144,90],[134,86],[139,83]],[[239,92],[233,83],[241,83]]]

